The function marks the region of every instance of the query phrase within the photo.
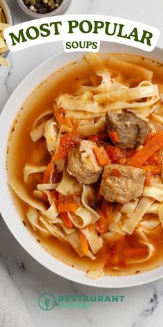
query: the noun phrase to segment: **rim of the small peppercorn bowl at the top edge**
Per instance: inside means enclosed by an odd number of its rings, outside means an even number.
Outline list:
[[[32,17],[32,18],[43,18],[43,17],[49,17],[49,16],[55,16],[55,15],[62,15],[64,12],[66,12],[71,4],[72,0],[62,0],[61,4],[58,8],[52,10],[51,12],[47,12],[46,14],[39,14],[37,12],[32,12],[28,9],[28,7],[23,3],[23,0],[17,0],[17,3],[21,10],[26,13],[26,15]]]

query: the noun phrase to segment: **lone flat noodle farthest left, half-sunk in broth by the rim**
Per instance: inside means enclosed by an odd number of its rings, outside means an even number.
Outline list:
[[[12,178],[8,181],[8,184],[10,185],[10,187],[12,188],[13,191],[15,191],[15,193],[17,194],[17,196],[23,200],[24,202],[26,202],[27,204],[29,204],[30,206],[32,206],[35,209],[38,209],[40,211],[44,211],[45,210],[45,206],[44,204],[33,200],[27,193],[26,188],[24,188],[23,184],[21,184],[21,182],[16,179],[16,178]]]

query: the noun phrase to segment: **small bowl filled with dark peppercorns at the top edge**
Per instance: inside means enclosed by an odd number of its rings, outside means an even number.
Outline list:
[[[28,16],[41,18],[64,14],[71,0],[17,0],[17,3]]]

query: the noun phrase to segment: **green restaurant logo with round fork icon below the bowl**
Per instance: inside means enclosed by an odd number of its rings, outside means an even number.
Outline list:
[[[59,309],[77,309],[77,308],[89,308],[90,303],[117,303],[117,302],[124,302],[124,295],[111,295],[106,294],[103,295],[61,295],[59,294],[57,297],[55,297],[53,294],[50,293],[44,293],[41,294],[39,297],[39,307],[42,310],[48,311],[52,310],[54,307]]]

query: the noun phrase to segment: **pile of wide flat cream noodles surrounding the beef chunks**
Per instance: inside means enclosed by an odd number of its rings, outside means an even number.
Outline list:
[[[96,260],[96,254],[105,242],[112,243],[135,233],[146,253],[142,258],[126,256],[126,264],[142,263],[155,253],[155,247],[148,240],[149,233],[160,224],[163,227],[162,148],[157,154],[160,170],[151,173],[142,196],[126,204],[105,202],[102,208],[93,205],[97,186],[79,184],[68,173],[67,155],[70,144],[73,143],[75,148],[81,139],[106,133],[105,115],[108,110],[121,113],[130,109],[148,122],[153,134],[162,131],[161,96],[157,85],[152,82],[153,72],[148,69],[115,58],[109,58],[104,65],[95,53],[86,54],[85,60],[94,71],[89,82],[81,82],[75,94],[59,94],[54,108],[41,114],[33,123],[30,137],[36,145],[44,137],[50,162],[47,166],[27,163],[23,169],[24,184],[14,178],[9,180],[9,184],[28,204],[26,215],[34,231],[69,243],[80,257],[87,256],[91,260]],[[128,76],[126,82],[124,72]],[[131,87],[133,75],[137,85]],[[138,146],[136,151],[143,147]],[[155,167],[155,164],[151,166]],[[58,180],[56,172],[61,175]],[[36,182],[33,197],[30,197],[26,184],[35,175],[40,176],[41,182]],[[102,204],[102,198],[100,201]],[[63,211],[63,204],[70,211]],[[104,229],[100,224],[102,213],[106,219]],[[150,219],[147,218],[149,214]],[[97,279],[103,274],[104,264],[103,260],[101,266],[89,270],[87,276]],[[115,272],[123,270],[117,263],[113,269]]]

